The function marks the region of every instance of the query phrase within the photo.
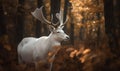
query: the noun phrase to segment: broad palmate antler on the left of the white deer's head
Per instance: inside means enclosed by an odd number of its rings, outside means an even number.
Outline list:
[[[43,6],[40,7],[40,9],[37,8],[34,12],[32,12],[32,15],[33,15],[36,19],[38,19],[39,21],[41,21],[42,23],[45,23],[45,24],[48,24],[48,25],[51,25],[51,26],[57,28],[58,25],[59,25],[59,22],[57,22],[57,24],[54,24],[54,23],[52,22],[52,19],[53,19],[53,16],[52,16],[52,15],[51,15],[51,22],[48,21],[48,20],[44,17],[44,15],[43,15],[42,8],[43,8]]]

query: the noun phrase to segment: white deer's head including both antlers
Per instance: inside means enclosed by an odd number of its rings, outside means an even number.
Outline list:
[[[65,34],[63,31],[63,27],[64,27],[65,23],[68,21],[68,17],[65,20],[65,22],[63,22],[63,12],[60,11],[60,13],[56,13],[56,17],[59,21],[56,24],[54,24],[52,22],[53,15],[51,15],[51,21],[48,21],[44,17],[42,9],[43,9],[43,6],[40,7],[40,9],[37,8],[34,12],[32,12],[32,15],[35,18],[37,18],[38,20],[40,20],[42,23],[48,24],[50,26],[51,33],[56,40],[63,41],[63,40],[69,39],[69,36],[67,34]]]

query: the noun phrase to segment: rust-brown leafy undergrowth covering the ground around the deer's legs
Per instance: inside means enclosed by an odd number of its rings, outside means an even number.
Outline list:
[[[80,43],[63,45],[55,57],[53,71],[119,71],[120,57],[102,46],[93,48]],[[49,71],[49,65],[44,64],[39,69]],[[0,71],[34,70],[34,65],[26,67],[25,64],[18,64],[16,47],[0,44]]]

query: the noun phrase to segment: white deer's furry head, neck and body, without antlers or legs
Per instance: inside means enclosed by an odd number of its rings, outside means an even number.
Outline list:
[[[24,38],[17,49],[19,62],[46,62],[48,53],[54,50],[53,47],[60,46],[61,41],[67,40],[68,38],[69,36],[61,28],[54,29],[49,36]]]

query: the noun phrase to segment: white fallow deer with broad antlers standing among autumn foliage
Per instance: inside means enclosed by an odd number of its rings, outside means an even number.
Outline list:
[[[37,70],[39,62],[48,63],[47,59],[50,52],[53,54],[49,56],[49,59],[54,60],[57,53],[57,50],[54,48],[55,46],[60,46],[61,41],[69,39],[69,36],[62,30],[68,18],[63,23],[63,13],[60,11],[60,13],[56,14],[59,20],[58,23],[53,24],[53,22],[45,19],[42,8],[43,6],[40,9],[37,8],[32,12],[32,15],[42,23],[48,24],[52,28],[51,33],[48,36],[42,36],[40,38],[26,37],[19,43],[17,48],[19,62],[24,62],[26,64],[34,63]],[[53,17],[51,17],[51,20],[52,19]],[[52,69],[53,60],[50,62],[50,71]]]

